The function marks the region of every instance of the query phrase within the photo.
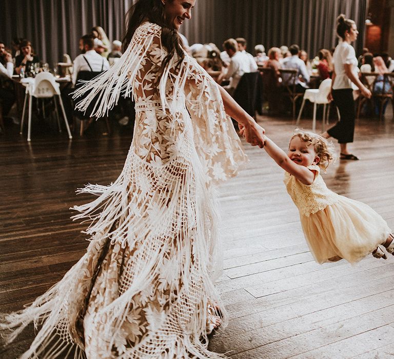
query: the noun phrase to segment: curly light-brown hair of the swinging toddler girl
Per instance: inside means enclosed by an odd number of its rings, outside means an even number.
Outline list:
[[[328,142],[326,138],[322,137],[321,135],[305,131],[302,129],[296,129],[295,132],[292,134],[290,141],[295,137],[300,137],[301,141],[303,142],[310,142],[313,145],[314,151],[320,157],[320,161],[318,166],[326,170],[328,165],[337,159],[337,154],[334,149],[334,146],[331,142]]]

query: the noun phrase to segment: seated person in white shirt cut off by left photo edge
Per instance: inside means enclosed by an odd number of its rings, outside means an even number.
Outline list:
[[[0,117],[7,116],[15,102],[14,85],[11,81],[13,70],[12,56],[0,41],[0,104],[2,105]]]

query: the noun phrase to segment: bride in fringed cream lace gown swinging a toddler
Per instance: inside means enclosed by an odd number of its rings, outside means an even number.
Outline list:
[[[120,61],[76,91],[88,94],[78,108],[95,103],[92,116],[132,94],[133,140],[114,183],[81,190],[98,196],[74,208],[91,222],[87,253],[30,307],[1,318],[14,329],[7,342],[42,324],[24,358],[223,357],[207,349],[219,315],[227,321],[213,286],[212,185],[246,158],[228,115],[252,145],[263,147],[264,129],[183,51],[178,30],[194,3],[137,1]]]

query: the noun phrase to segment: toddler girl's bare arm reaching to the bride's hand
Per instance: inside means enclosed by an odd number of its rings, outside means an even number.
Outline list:
[[[265,136],[265,151],[281,166],[286,172],[299,179],[304,185],[311,185],[314,179],[314,171],[305,166],[297,165],[292,162],[285,151],[279,148],[270,138]]]

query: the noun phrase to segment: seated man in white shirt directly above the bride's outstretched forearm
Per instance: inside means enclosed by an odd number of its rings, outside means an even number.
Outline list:
[[[226,40],[223,44],[223,48],[230,57],[230,64],[228,66],[227,73],[219,76],[218,83],[220,84],[223,80],[229,80],[230,84],[224,86],[224,88],[230,95],[232,95],[235,88],[237,88],[242,75],[245,72],[250,72],[250,66],[245,61],[245,56],[238,51],[238,45],[235,39],[229,38]]]

